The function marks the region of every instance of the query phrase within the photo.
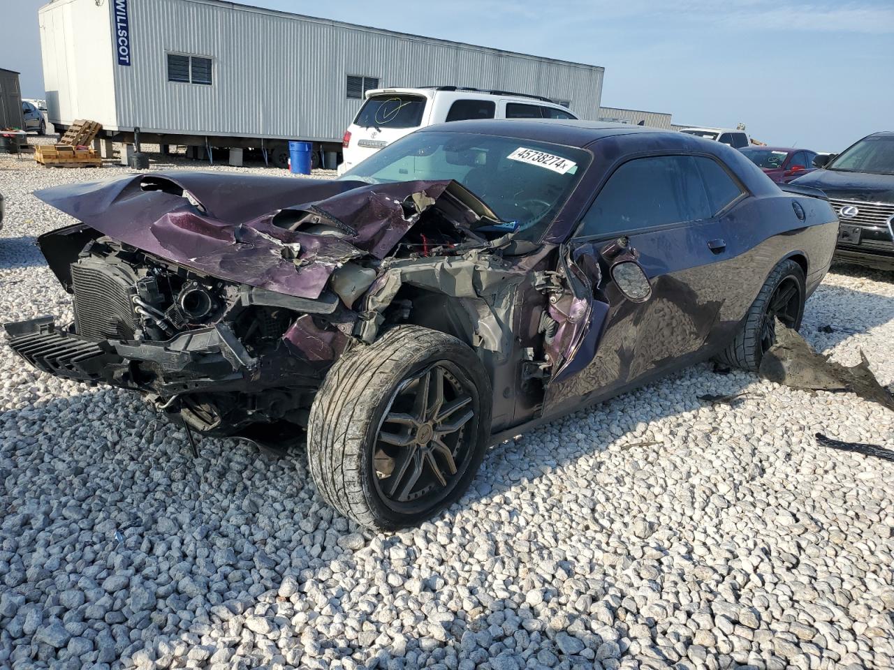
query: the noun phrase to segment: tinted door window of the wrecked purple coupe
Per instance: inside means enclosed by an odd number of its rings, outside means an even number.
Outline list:
[[[711,209],[692,156],[637,158],[623,163],[605,182],[584,214],[578,236],[698,221],[710,218]]]

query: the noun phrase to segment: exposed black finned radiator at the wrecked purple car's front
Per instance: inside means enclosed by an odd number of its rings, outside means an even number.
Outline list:
[[[131,295],[131,272],[96,258],[72,264],[75,327],[98,339],[132,339],[138,322]]]

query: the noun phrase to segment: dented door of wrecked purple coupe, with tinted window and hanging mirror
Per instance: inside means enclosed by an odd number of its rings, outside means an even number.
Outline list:
[[[734,191],[709,195],[705,175],[714,169]],[[708,156],[620,164],[562,248],[560,270],[590,309],[587,328],[568,329],[573,339],[556,343],[563,358],[547,384],[546,411],[609,396],[715,346],[721,305],[746,272],[722,267],[730,260],[726,213],[745,195]]]

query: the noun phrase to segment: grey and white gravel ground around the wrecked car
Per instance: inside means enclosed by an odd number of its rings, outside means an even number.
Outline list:
[[[4,321],[71,314],[32,246],[71,220],[31,191],[124,172],[0,156]],[[894,275],[835,270],[802,332],[890,384]],[[135,395],[5,346],[0,381],[0,667],[894,666],[894,463],[813,438],[894,448],[894,413],[852,395],[699,365],[493,448],[440,518],[370,536],[303,454],[193,460]]]

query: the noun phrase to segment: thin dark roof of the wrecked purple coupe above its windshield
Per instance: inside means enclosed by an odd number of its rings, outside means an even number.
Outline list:
[[[480,135],[534,139],[564,144],[569,147],[586,147],[598,139],[637,133],[661,133],[671,138],[679,138],[679,133],[673,130],[631,126],[627,123],[607,123],[604,121],[582,121],[576,119],[476,119],[437,123],[417,130],[417,132],[432,131],[469,132]]]

